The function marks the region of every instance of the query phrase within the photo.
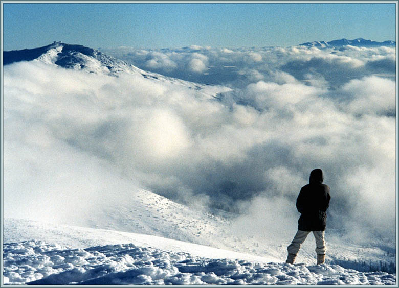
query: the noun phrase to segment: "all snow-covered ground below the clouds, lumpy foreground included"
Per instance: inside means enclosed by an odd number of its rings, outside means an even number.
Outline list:
[[[109,198],[106,207],[90,207],[87,212],[91,218],[86,222],[70,219],[70,224],[85,227],[6,218],[5,282],[391,284],[395,281],[395,275],[372,271],[382,270],[377,267],[382,260],[386,266],[390,261],[393,263],[394,253],[388,255],[383,248],[371,245],[351,245],[328,231],[325,267],[315,266],[312,236],[298,255],[299,264],[289,266],[282,262],[290,238],[287,237],[286,243],[275,243],[273,235],[265,235],[260,242],[252,235],[234,230],[231,226],[234,215],[190,209],[143,189],[118,200],[119,204]],[[371,269],[371,265],[375,268]],[[226,266],[230,268],[226,270]],[[388,268],[390,273],[395,270],[394,266]]]

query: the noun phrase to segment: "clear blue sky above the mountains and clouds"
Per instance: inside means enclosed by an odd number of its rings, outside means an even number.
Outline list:
[[[2,3],[4,50],[395,40],[395,3]]]

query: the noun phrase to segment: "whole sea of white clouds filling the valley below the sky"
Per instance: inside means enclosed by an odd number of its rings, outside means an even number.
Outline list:
[[[237,212],[233,228],[262,237],[295,229],[296,197],[321,168],[329,228],[394,239],[395,48],[103,52],[230,90],[206,98],[140,74],[6,65],[6,217],[62,221],[140,185]]]

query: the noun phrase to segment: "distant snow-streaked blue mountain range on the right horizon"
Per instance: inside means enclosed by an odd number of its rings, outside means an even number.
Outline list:
[[[340,40],[333,40],[333,41],[314,41],[314,42],[306,42],[299,44],[299,46],[308,46],[308,47],[317,47],[317,48],[329,48],[329,47],[342,47],[345,45],[352,45],[352,46],[362,46],[362,47],[378,47],[378,46],[396,46],[395,41],[387,40],[384,42],[376,42],[372,40],[366,40],[363,38],[357,38],[353,40],[348,39],[340,39]]]

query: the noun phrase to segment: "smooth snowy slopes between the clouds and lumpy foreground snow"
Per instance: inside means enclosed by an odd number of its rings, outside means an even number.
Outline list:
[[[95,202],[94,199],[87,200]],[[291,235],[287,235],[285,242],[281,243],[272,234],[264,235],[262,239],[244,234],[235,230],[234,214],[192,209],[144,189],[132,189],[124,196],[119,194],[118,198],[110,194],[105,202],[106,206],[100,204],[87,206],[86,213],[90,217],[85,215],[62,221],[69,225],[60,225],[57,221],[51,224],[5,219],[4,243],[29,246],[32,243],[22,242],[42,241],[46,244],[40,245],[51,244],[69,249],[134,244],[174,252],[181,251],[206,258],[240,258],[251,262],[281,263],[286,257],[286,246],[291,241]],[[361,247],[343,241],[336,232],[328,230],[326,239],[328,247],[326,262],[329,265],[370,272],[383,270],[378,267],[383,262],[384,266],[389,268],[385,269],[386,271],[390,273],[395,271],[394,250],[388,250],[393,252],[387,253],[384,243],[380,246],[370,244]],[[314,248],[314,239],[311,235],[298,255],[298,263],[303,263],[304,266],[315,265]],[[19,267],[14,265],[13,268]]]

